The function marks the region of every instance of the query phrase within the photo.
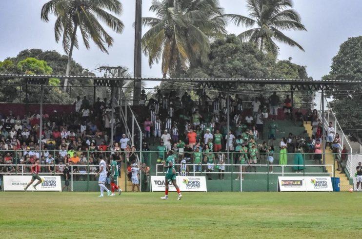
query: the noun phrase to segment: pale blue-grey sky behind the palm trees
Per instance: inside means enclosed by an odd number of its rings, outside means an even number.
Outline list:
[[[40,20],[41,6],[47,0],[1,0],[0,1],[0,60],[14,57],[21,50],[40,48],[56,50],[64,54],[61,43],[54,38],[54,21],[49,23]],[[135,1],[121,0],[123,14],[120,19],[125,24],[122,35],[109,30],[114,38],[114,46],[109,55],[102,53],[94,44],[86,50],[80,43],[80,49],[73,53],[74,60],[89,70],[100,65],[127,66],[133,71],[133,50]],[[225,13],[247,15],[244,0],[220,0]],[[349,37],[362,34],[362,1],[360,0],[294,0],[294,8],[302,16],[302,23],[307,32],[288,31],[285,34],[299,42],[305,49],[280,45],[279,59],[291,57],[293,62],[307,66],[309,76],[318,80],[330,70],[331,59],[339,50],[339,46]],[[143,16],[153,16],[148,11],[151,0],[143,0]],[[229,24],[229,33],[241,33],[243,28]],[[142,59],[142,75],[144,77],[161,77],[161,66],[151,69],[145,56]]]

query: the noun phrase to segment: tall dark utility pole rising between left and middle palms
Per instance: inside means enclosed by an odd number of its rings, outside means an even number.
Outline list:
[[[142,0],[136,0],[134,78],[142,77]],[[133,105],[140,104],[141,80],[133,81]]]

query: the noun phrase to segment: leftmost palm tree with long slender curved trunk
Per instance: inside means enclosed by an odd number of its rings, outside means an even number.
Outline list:
[[[124,25],[116,16],[121,15],[119,0],[50,0],[41,9],[41,20],[49,21],[49,15],[57,17],[54,26],[55,40],[62,41],[68,54],[66,76],[69,76],[73,47],[78,49],[77,30],[80,29],[83,43],[89,49],[89,39],[108,54],[107,47],[112,46],[113,38],[104,30],[99,20],[117,33],[122,33]],[[61,37],[62,35],[62,37]],[[68,80],[64,81],[66,91]]]

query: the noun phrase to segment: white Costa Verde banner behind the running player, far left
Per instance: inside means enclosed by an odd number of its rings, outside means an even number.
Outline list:
[[[37,186],[37,190],[33,186],[28,187],[28,191],[60,191],[61,181],[60,176],[40,176],[44,179],[42,183]],[[32,176],[4,176],[4,191],[24,191],[24,187],[31,181]],[[38,182],[36,179],[32,185]]]

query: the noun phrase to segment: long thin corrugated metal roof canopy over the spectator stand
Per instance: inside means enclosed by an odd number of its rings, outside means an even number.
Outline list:
[[[0,80],[9,78],[23,78],[29,84],[47,84],[50,78],[93,80],[95,86],[121,85],[123,80],[144,80],[144,81],[167,81],[167,82],[194,82],[199,87],[231,89],[237,88],[240,84],[281,84],[290,85],[291,90],[330,90],[335,85],[359,85],[362,80],[299,80],[299,79],[241,79],[241,78],[220,78],[220,79],[191,79],[191,78],[123,78],[123,77],[86,77],[86,76],[45,76],[45,75],[1,75]]]

